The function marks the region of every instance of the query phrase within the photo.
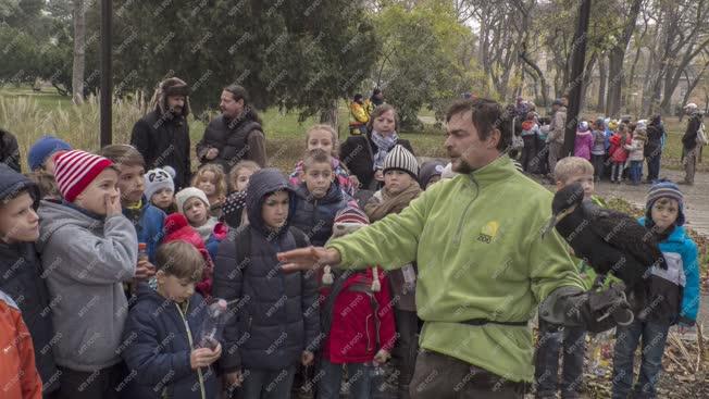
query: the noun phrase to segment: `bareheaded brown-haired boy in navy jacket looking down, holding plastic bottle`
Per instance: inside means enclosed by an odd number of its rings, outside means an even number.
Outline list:
[[[200,339],[209,307],[195,292],[204,259],[191,244],[177,240],[158,248],[156,265],[158,288],[138,287],[123,332],[121,356],[134,377],[126,378],[126,397],[216,398],[212,363],[222,356],[222,345]]]

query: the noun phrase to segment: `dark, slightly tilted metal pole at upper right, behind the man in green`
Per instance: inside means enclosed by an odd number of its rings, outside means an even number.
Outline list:
[[[586,63],[586,41],[588,35],[588,18],[590,16],[590,0],[581,0],[576,33],[573,37],[573,55],[571,59],[571,90],[569,92],[569,110],[567,112],[567,128],[563,138],[563,157],[573,154],[576,138],[576,125],[581,112],[581,88],[584,82]],[[563,158],[562,157],[562,158]]]

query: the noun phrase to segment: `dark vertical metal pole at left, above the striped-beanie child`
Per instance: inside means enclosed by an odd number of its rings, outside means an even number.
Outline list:
[[[101,0],[101,147],[113,141],[111,126],[111,105],[113,84],[111,70],[111,39],[113,0]]]

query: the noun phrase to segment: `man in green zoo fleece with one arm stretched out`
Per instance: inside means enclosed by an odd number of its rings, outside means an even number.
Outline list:
[[[515,171],[505,149],[511,117],[490,100],[462,100],[447,115],[446,150],[460,175],[401,213],[327,248],[279,254],[285,270],[323,264],[385,270],[416,261],[416,311],[425,324],[413,398],[523,398],[534,378],[527,321],[542,316],[588,331],[612,327],[618,288],[585,292],[556,234],[542,237],[552,195]]]

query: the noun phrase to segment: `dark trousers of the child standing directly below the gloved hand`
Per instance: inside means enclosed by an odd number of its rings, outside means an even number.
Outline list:
[[[563,349],[561,397],[579,398],[583,383],[586,332],[561,327],[539,319],[539,340],[535,356],[534,379],[537,398],[556,398],[559,389],[559,351]]]

